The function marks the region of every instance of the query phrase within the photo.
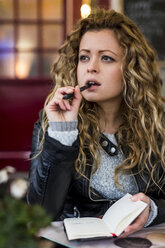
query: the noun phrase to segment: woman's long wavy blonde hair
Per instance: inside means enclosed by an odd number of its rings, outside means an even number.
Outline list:
[[[102,29],[113,30],[124,51],[123,100],[121,104],[123,123],[119,127],[117,139],[120,147],[127,147],[127,156],[116,167],[115,182],[119,185],[119,176],[123,173],[130,173],[136,167],[138,168],[137,173],[141,177],[147,173],[150,185],[157,186],[161,190],[165,183],[162,180],[165,173],[162,80],[155,51],[128,17],[114,10],[96,9],[87,18],[77,23],[59,49],[59,57],[52,68],[55,87],[47,97],[45,106],[59,87],[68,85],[75,87],[77,85],[76,69],[81,38],[87,31]],[[97,110],[96,103],[82,100],[78,115],[80,150],[75,168],[80,175],[84,176],[87,166],[86,148],[89,149],[93,158],[91,165],[94,167],[93,171],[97,170],[100,164],[98,151],[100,150],[101,132]],[[41,147],[48,128],[45,110],[42,118]]]

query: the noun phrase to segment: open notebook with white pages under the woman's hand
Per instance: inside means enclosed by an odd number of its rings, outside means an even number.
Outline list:
[[[131,195],[115,202],[102,219],[95,217],[67,218],[64,226],[69,240],[119,236],[147,207],[143,201],[133,202]]]

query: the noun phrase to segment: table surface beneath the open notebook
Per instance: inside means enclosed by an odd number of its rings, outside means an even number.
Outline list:
[[[156,225],[153,227],[143,228],[142,230],[134,233],[130,237],[140,237],[147,238],[149,236],[153,236],[155,234],[163,234],[165,236],[165,223]],[[51,226],[42,229],[39,234],[44,238],[47,238],[51,241],[56,242],[57,244],[62,244],[64,247],[68,248],[119,248],[122,246],[117,246],[115,244],[115,238],[110,239],[102,239],[102,240],[90,240],[90,241],[68,241],[66,234],[64,232],[63,222],[57,221],[52,222]],[[152,242],[151,248],[165,248],[165,241],[162,242],[161,239],[157,238],[157,240],[151,240]],[[123,246],[124,247],[124,246]],[[137,246],[136,246],[137,247]],[[145,246],[146,247],[146,246]],[[131,246],[133,248],[133,246]],[[140,248],[143,248],[142,246]]]

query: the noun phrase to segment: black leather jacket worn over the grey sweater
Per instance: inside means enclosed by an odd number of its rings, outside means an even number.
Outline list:
[[[31,157],[39,151],[38,132],[40,127],[41,118],[34,125]],[[40,137],[41,135],[40,132]],[[105,144],[104,138],[102,138],[101,144]],[[111,145],[113,144],[108,142],[107,149]],[[105,149],[105,147],[103,148]],[[62,220],[65,217],[73,216],[75,207],[81,217],[102,216],[113,204],[113,200],[103,198],[98,192],[90,188],[90,180],[77,175],[74,162],[78,152],[78,139],[72,146],[66,146],[49,137],[46,133],[42,152],[31,160],[28,203],[42,205],[53,217],[53,220]],[[89,154],[87,159],[91,159]],[[89,179],[90,174],[91,167],[87,166],[86,176]],[[148,182],[147,176],[145,180],[142,180],[140,176],[136,175],[135,180],[139,192],[144,192]],[[158,189],[152,190],[151,187],[146,194],[158,206],[158,215],[152,224],[165,222],[165,195]]]

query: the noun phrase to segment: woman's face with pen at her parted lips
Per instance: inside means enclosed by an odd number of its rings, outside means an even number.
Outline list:
[[[87,101],[121,101],[123,49],[109,29],[88,31],[81,39],[77,80],[80,87],[95,82],[82,92]]]

